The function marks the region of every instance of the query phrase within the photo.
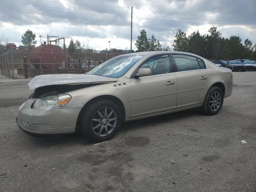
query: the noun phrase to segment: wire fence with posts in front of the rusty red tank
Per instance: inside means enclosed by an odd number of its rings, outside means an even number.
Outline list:
[[[84,73],[121,54],[126,54],[126,52],[81,50],[66,52],[66,58],[64,58],[63,52],[30,52],[29,50],[10,49],[0,55],[0,70],[2,75],[10,78],[20,78],[19,76],[28,78],[41,74]],[[35,59],[35,55],[39,57]]]

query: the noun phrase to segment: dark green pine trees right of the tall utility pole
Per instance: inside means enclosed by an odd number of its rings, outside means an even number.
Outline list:
[[[200,34],[198,31],[186,35],[178,29],[172,44],[174,51],[190,52],[204,58],[216,60],[232,60],[245,58],[256,60],[256,44],[246,39],[242,43],[239,36],[231,35],[230,38],[222,37],[215,26],[208,30],[209,34]],[[135,46],[138,52],[171,50],[169,46],[160,44],[154,35],[150,39],[146,36],[146,30],[142,30],[138,36]]]

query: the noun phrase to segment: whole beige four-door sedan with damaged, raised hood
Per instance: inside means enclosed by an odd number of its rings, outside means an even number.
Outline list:
[[[186,52],[138,52],[114,57],[87,74],[36,76],[17,116],[27,134],[80,131],[112,138],[122,122],[201,108],[215,115],[232,94],[232,72]]]

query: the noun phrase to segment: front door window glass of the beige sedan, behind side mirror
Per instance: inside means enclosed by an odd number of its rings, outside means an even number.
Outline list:
[[[147,60],[141,68],[149,68],[151,70],[152,75],[160,75],[171,72],[171,64],[168,55],[159,55],[150,58]]]

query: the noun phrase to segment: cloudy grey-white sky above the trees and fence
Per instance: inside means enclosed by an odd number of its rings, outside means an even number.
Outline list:
[[[176,31],[206,34],[216,26],[225,38],[239,35],[256,43],[256,0],[0,0],[0,34],[21,45],[30,29],[46,41],[47,34],[78,39],[96,50],[132,49],[140,30],[171,45]]]

